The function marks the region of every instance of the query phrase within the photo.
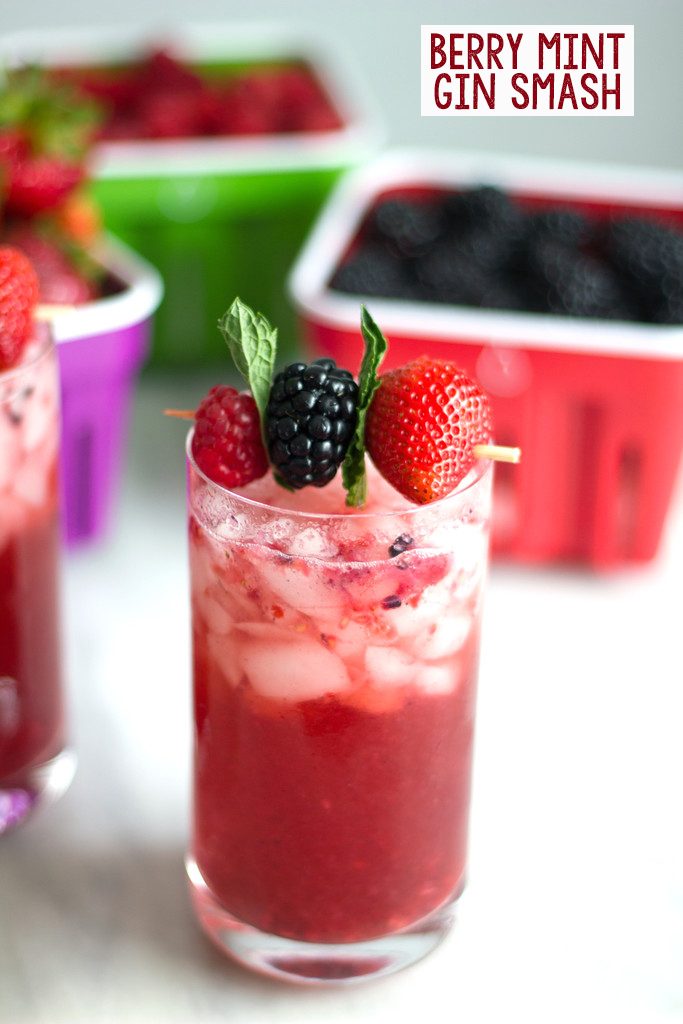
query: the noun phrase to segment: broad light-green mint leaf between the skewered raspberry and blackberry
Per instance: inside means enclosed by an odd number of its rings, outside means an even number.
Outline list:
[[[278,329],[262,313],[255,313],[241,299],[236,299],[226,313],[218,321],[225,344],[234,365],[249,385],[261,418],[263,442],[265,435],[265,409],[268,404],[272,368],[278,352]]]

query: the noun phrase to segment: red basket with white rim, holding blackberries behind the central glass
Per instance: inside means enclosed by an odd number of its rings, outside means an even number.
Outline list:
[[[527,205],[683,224],[683,176],[485,155],[389,154],[348,174],[290,279],[310,346],[359,361],[357,296],[329,282],[379,199],[496,185]],[[389,337],[385,368],[457,359],[492,398],[498,466],[494,551],[613,568],[654,557],[683,449],[683,326],[487,310],[362,296]]]

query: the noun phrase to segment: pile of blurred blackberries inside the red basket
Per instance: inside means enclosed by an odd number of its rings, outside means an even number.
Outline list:
[[[359,296],[683,324],[683,227],[528,209],[481,186],[380,201],[330,287]]]

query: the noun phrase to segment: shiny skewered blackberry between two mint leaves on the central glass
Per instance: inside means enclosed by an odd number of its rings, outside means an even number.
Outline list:
[[[352,375],[334,359],[292,362],[275,376],[265,424],[270,462],[286,483],[330,482],[353,435],[357,399]]]

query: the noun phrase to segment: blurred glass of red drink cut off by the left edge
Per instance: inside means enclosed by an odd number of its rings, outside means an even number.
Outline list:
[[[0,373],[0,833],[71,781],[59,649],[58,382],[46,331]]]

